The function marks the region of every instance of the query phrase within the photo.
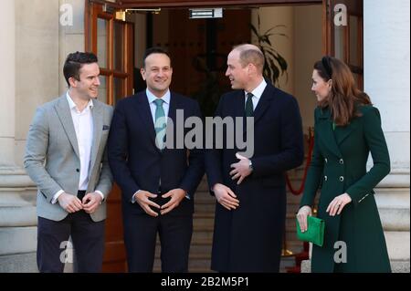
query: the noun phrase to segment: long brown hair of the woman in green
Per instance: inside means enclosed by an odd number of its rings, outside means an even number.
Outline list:
[[[370,97],[358,89],[350,68],[335,57],[322,57],[314,64],[324,81],[332,80],[332,89],[326,99],[320,101],[321,108],[329,107],[335,124],[345,126],[361,113],[357,105],[371,105]]]

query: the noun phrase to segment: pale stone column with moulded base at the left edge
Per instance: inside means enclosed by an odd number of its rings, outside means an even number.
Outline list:
[[[30,225],[36,223],[36,208],[32,193],[26,192],[32,182],[15,162],[15,1],[5,0],[2,7],[6,13],[0,17],[0,272],[35,271],[31,263],[36,262],[36,228]]]

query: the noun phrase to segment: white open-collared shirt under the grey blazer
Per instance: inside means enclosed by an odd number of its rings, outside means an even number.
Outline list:
[[[73,120],[74,130],[76,131],[77,142],[79,146],[79,191],[86,191],[89,185],[89,172],[91,165],[91,146],[93,140],[93,117],[91,109],[93,108],[93,100],[90,99],[89,103],[82,111],[77,109],[76,104],[66,94],[68,101],[68,107],[71,113],[71,119]],[[58,197],[64,192],[64,190],[58,191],[54,196],[52,203],[57,203]],[[96,191],[104,199],[104,195],[100,191]],[[73,193],[76,194],[77,193]]]

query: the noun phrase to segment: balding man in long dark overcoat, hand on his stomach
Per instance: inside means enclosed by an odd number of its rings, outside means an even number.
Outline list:
[[[254,130],[254,140],[247,144],[253,143],[254,152],[245,157],[236,145],[227,148],[227,136],[223,149],[206,151],[206,174],[217,202],[211,268],[279,272],[286,217],[284,174],[303,160],[299,106],[263,78],[264,56],[258,47],[235,47],[227,66],[226,76],[236,91],[221,97],[216,117],[253,118],[254,126],[247,130]],[[243,138],[247,130],[236,134]]]

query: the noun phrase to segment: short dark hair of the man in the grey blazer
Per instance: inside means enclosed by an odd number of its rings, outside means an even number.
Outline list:
[[[70,87],[70,83],[68,82],[68,78],[75,78],[79,79],[79,70],[83,67],[84,64],[92,64],[97,63],[98,59],[96,55],[93,53],[83,53],[83,52],[75,52],[68,54],[66,61],[64,62],[63,67],[63,74],[64,78],[66,78],[66,82],[68,88]]]

